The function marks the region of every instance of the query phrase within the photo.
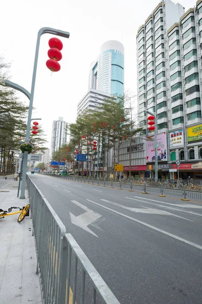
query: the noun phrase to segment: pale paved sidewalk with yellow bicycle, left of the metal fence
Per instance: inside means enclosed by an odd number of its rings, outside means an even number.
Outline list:
[[[0,187],[0,208],[23,207],[26,199],[17,198],[17,182]],[[36,275],[36,250],[32,222],[19,214],[0,219],[0,302],[1,304],[41,304],[39,277]]]

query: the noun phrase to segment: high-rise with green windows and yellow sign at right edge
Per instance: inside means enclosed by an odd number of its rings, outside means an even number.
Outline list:
[[[168,110],[170,159],[201,161],[202,0],[168,29],[168,39],[170,102],[161,110],[166,113]],[[199,168],[196,164],[191,166]],[[201,178],[202,173],[199,175]]]

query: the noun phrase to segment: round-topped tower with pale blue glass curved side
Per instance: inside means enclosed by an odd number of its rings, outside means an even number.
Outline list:
[[[110,40],[101,46],[98,58],[90,66],[88,89],[124,94],[124,46],[120,42]]]

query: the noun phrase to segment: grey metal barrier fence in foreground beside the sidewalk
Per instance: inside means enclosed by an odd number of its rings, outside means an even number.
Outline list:
[[[28,175],[27,184],[44,304],[120,304]]]

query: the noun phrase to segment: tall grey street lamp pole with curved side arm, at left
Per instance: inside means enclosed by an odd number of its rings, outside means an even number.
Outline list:
[[[30,127],[31,127],[31,115],[32,115],[32,106],[33,106],[33,98],[34,98],[34,89],[35,89],[35,81],[36,81],[36,70],[37,70],[37,63],[38,63],[38,53],[39,53],[39,45],[40,45],[40,37],[43,34],[53,34],[65,38],[69,38],[69,32],[58,30],[51,27],[42,27],[38,31],[37,41],[36,41],[36,51],[35,51],[35,58],[34,58],[34,67],[33,67],[33,74],[32,74],[32,85],[31,85],[31,93],[25,90],[23,87],[19,85],[13,86],[14,89],[21,91],[29,98],[29,111],[28,111],[28,119],[27,119],[27,130],[26,130],[26,138],[25,143],[29,143],[30,137]],[[8,84],[8,81],[6,81]],[[24,152],[24,161],[23,161],[23,175],[22,175],[22,187],[21,187],[21,196],[20,199],[25,199],[25,181],[26,181],[26,171],[27,171],[27,159],[28,159],[28,151]]]

